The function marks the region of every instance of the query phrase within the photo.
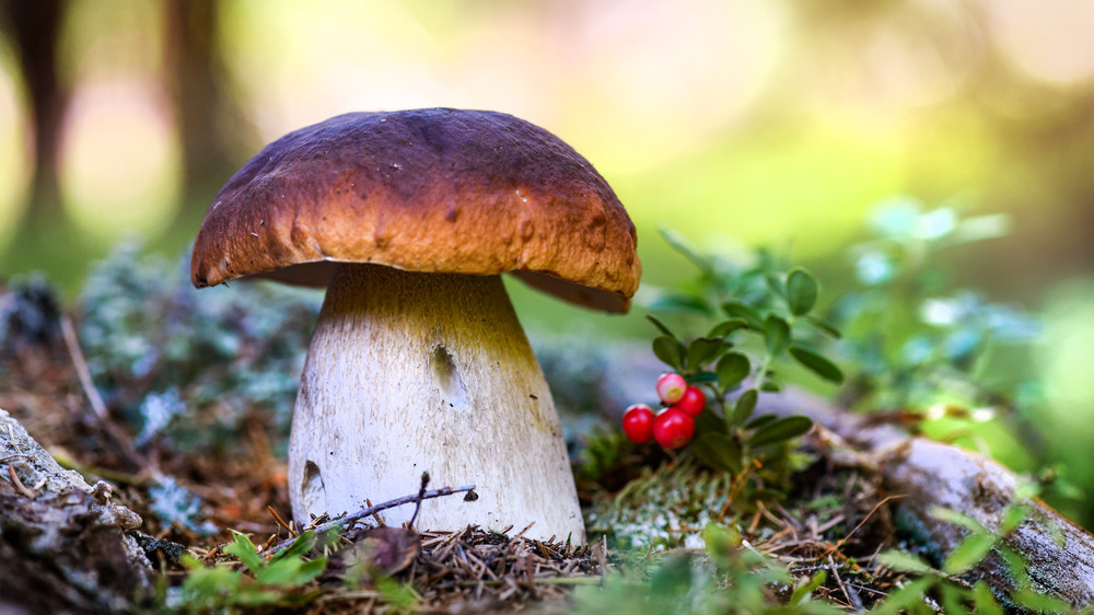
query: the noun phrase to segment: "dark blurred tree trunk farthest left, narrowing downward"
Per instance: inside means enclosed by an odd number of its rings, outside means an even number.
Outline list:
[[[30,97],[34,127],[32,219],[56,219],[60,208],[57,178],[61,123],[69,89],[57,70],[57,43],[68,0],[4,0],[0,18],[15,46],[19,70]]]

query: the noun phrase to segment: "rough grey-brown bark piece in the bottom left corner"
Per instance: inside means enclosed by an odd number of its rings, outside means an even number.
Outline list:
[[[151,565],[127,532],[141,519],[88,485],[0,409],[0,612],[125,613]]]

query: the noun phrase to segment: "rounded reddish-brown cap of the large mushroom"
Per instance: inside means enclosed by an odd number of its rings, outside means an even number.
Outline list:
[[[268,144],[221,188],[194,245],[194,286],[266,275],[325,285],[333,263],[513,271],[626,312],[635,225],[592,164],[513,116],[352,113]]]

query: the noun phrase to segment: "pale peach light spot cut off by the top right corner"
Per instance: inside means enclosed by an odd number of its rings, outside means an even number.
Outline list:
[[[1059,84],[1094,77],[1094,2],[985,0],[996,40],[1025,72]]]

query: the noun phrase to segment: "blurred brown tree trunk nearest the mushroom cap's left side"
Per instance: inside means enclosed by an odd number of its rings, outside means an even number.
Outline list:
[[[183,146],[184,208],[203,211],[238,165],[233,146],[249,143],[254,130],[226,88],[217,2],[167,0],[165,19],[166,81]]]

